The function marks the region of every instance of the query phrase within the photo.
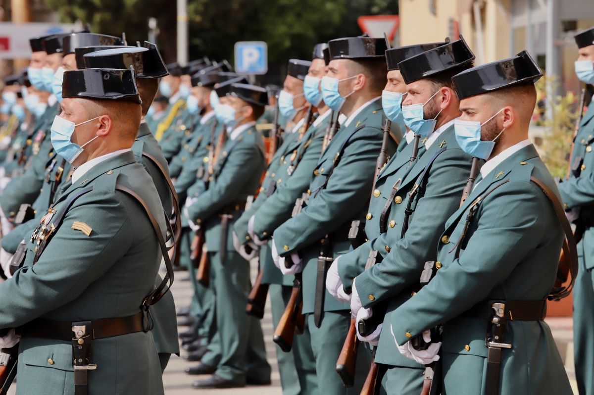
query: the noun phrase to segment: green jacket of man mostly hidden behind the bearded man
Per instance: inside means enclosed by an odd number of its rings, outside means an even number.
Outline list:
[[[399,151],[395,156],[391,157],[390,161],[378,175],[377,181],[375,181],[375,189],[372,192],[369,211],[365,221],[365,235],[368,241],[340,257],[339,274],[345,289],[349,289],[352,286],[353,279],[365,270],[365,263],[371,250],[377,250],[382,257],[388,254],[385,248],[388,244],[388,234],[380,232],[380,217],[381,211],[386,206],[387,200],[390,198],[394,188],[397,188],[398,192],[391,198],[387,230],[390,232],[389,236],[391,236],[391,239],[400,239],[403,214],[400,214],[399,221],[396,221],[396,215],[400,211],[400,206],[406,207],[405,198],[410,188],[412,188],[410,183],[404,185],[402,181],[415,167],[414,163],[410,163],[413,144],[406,144],[406,139],[403,139],[403,141],[405,141],[404,145],[402,143],[399,144]],[[400,150],[400,147],[403,147],[403,149]],[[422,141],[419,141],[416,160],[421,159],[424,154],[425,146],[422,144]]]

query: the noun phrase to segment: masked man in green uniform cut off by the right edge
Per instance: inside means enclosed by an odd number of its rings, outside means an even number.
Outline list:
[[[594,84],[594,27],[582,30],[575,36],[579,57],[576,61],[577,78],[586,84],[584,94],[592,96]],[[594,335],[592,324],[594,314],[590,302],[594,296],[592,267],[594,251],[589,247],[592,240],[592,186],[589,180],[594,168],[592,142],[594,141],[594,105],[590,103],[586,113],[580,110],[580,125],[574,138],[570,172],[568,178],[559,184],[559,191],[570,217],[577,225],[576,241],[580,270],[577,272],[576,290],[573,295],[573,340],[577,387],[580,395],[594,394]]]

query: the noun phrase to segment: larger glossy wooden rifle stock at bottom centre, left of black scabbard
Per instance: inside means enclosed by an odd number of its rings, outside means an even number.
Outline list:
[[[301,312],[302,307],[301,273],[297,273],[295,274],[289,303],[287,303],[285,311],[280,317],[273,336],[274,343],[284,352],[289,352],[293,347],[295,333],[301,334],[304,331],[305,316]]]

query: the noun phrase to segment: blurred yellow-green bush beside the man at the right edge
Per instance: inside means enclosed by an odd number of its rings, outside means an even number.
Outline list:
[[[553,176],[564,178],[567,173],[568,158],[572,146],[573,132],[578,114],[577,106],[579,94],[568,91],[564,96],[553,98],[553,118],[545,119],[544,103],[546,97],[546,83],[551,81],[557,86],[555,78],[544,77],[536,83],[537,104],[533,123],[546,128],[542,142],[543,160]]]

